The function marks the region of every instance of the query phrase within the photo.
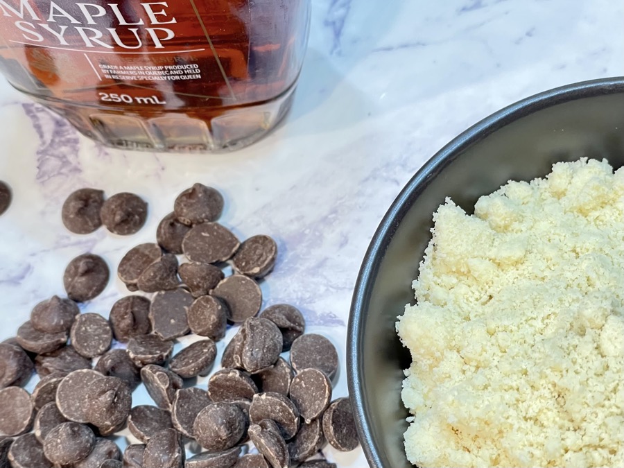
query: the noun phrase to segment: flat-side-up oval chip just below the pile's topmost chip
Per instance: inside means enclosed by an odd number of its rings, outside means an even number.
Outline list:
[[[184,255],[190,261],[217,263],[226,261],[239,248],[239,239],[219,223],[198,224],[182,241]]]

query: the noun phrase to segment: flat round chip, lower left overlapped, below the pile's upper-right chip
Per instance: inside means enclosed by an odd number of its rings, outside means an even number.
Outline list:
[[[228,320],[242,323],[260,310],[262,292],[253,279],[245,275],[229,276],[214,288],[212,295],[225,302]]]

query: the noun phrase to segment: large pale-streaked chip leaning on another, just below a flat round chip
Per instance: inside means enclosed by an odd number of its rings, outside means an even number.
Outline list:
[[[248,318],[241,327],[243,368],[254,374],[274,365],[281,353],[281,333],[266,318]]]

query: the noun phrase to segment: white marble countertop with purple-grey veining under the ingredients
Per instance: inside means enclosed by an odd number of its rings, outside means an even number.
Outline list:
[[[499,108],[546,89],[624,75],[624,3],[609,0],[313,0],[309,50],[292,111],[266,139],[226,155],[103,148],[0,83],[0,180],[14,202],[0,217],[0,338],[32,307],[63,295],[62,272],[85,251],[115,265],[153,241],[193,182],[225,196],[221,221],[241,239],[269,234],[279,257],[264,305],[287,302],[326,334],[347,394],[352,288],[367,245],[401,187],[440,147]],[[149,202],[130,238],[69,234],[71,191],[133,191]],[[119,280],[83,306],[107,315]],[[220,343],[223,350],[223,342]],[[33,380],[29,387],[32,388]],[[365,467],[361,449],[325,455]]]

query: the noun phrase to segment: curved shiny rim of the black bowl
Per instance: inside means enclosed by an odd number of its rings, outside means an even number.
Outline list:
[[[575,101],[601,95],[624,92],[624,76],[600,78],[596,80],[572,83],[547,91],[540,92],[517,101],[503,109],[490,114],[478,121],[457,137],[452,139],[433,157],[428,159],[413,175],[406,186],[390,205],[377,227],[358,272],[347,327],[347,385],[351,396],[356,428],[367,462],[371,468],[389,468],[381,464],[379,446],[372,438],[372,431],[368,421],[368,411],[365,406],[363,385],[363,363],[358,360],[359,352],[363,347],[363,319],[372,295],[372,278],[379,271],[381,261],[385,256],[392,235],[396,232],[400,221],[404,218],[411,205],[410,198],[416,197],[442,169],[453,162],[464,150],[476,144],[481,139],[492,134],[505,125],[521,119],[533,112],[553,107],[557,104]]]

